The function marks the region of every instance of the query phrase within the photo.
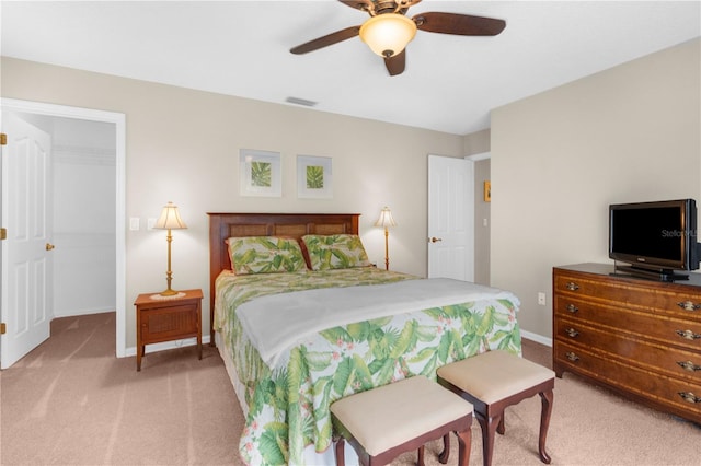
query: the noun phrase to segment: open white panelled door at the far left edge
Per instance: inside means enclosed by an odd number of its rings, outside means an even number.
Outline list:
[[[50,137],[3,113],[0,368],[14,364],[49,336],[51,321]]]

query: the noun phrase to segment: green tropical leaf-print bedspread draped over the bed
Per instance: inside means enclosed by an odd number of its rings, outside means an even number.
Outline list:
[[[248,407],[239,451],[251,465],[302,464],[303,451],[331,446],[329,406],[344,396],[436,369],[487,350],[520,354],[518,299],[427,308],[329,328],[285,350],[267,366],[237,318],[256,296],[313,288],[380,284],[415,277],[374,267],[234,276],[217,279],[215,329],[245,386]]]

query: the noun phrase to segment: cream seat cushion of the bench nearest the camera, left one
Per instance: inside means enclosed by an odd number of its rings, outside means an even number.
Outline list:
[[[472,413],[472,405],[423,375],[350,395],[331,412],[372,456]]]

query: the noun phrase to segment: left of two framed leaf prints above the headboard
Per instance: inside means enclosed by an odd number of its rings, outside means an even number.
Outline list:
[[[280,164],[279,152],[241,149],[239,152],[241,196],[281,197]]]

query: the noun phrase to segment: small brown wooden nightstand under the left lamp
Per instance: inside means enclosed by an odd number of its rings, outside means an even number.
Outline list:
[[[202,290],[181,291],[182,296],[163,298],[158,292],[139,294],[136,306],[136,370],[141,370],[146,346],[197,337],[202,359]]]

